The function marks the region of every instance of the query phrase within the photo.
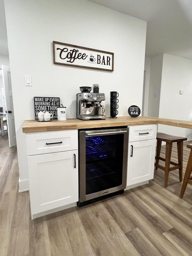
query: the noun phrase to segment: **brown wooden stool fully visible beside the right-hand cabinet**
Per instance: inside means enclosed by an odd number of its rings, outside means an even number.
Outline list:
[[[164,179],[164,186],[167,188],[168,183],[168,176],[169,172],[179,169],[179,180],[182,181],[182,171],[183,171],[183,141],[187,140],[184,137],[177,137],[165,133],[158,132],[157,133],[157,154],[156,154],[156,163],[155,169],[160,168],[161,170],[165,171],[165,179]],[[161,142],[166,142],[166,150],[165,150],[165,158],[160,157],[161,151]],[[173,142],[177,142],[177,153],[178,153],[178,164],[171,161],[171,150]],[[159,165],[159,160],[165,162],[165,166]],[[170,164],[174,165],[170,167]]]

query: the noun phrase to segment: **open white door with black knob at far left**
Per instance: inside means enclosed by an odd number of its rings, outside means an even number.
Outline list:
[[[15,119],[13,110],[13,95],[11,86],[11,73],[10,69],[6,66],[2,67],[3,86],[5,90],[5,102],[7,108],[7,130],[9,137],[9,147],[16,146],[16,132],[15,132]]]

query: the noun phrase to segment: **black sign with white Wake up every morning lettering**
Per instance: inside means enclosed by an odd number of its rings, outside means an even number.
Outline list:
[[[54,97],[34,97],[35,116],[40,111],[48,111],[53,115],[53,119],[57,119],[57,107],[60,107],[60,98]]]

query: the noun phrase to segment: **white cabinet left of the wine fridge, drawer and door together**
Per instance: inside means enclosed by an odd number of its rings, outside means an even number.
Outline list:
[[[28,155],[32,218],[38,213],[76,203],[78,131],[33,133],[27,134],[26,139],[28,154],[36,153]],[[51,153],[39,154],[40,152]]]

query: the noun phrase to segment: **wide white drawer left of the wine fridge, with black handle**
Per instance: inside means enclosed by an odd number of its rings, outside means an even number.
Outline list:
[[[26,134],[27,155],[78,149],[78,130]]]

